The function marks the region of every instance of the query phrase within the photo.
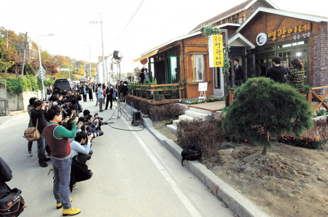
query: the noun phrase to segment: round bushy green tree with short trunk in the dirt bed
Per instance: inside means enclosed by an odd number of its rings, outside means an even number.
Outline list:
[[[267,78],[251,78],[237,88],[222,128],[226,135],[270,148],[269,135],[300,136],[313,125],[311,107],[292,86]]]

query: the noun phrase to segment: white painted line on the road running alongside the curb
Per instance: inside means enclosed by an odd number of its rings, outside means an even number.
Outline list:
[[[129,127],[129,129],[133,129],[129,122],[124,121],[126,125]],[[170,176],[168,171],[163,167],[163,165],[158,161],[158,159],[155,157],[155,155],[152,153],[150,148],[147,146],[147,144],[144,142],[144,140],[141,139],[141,137],[136,133],[132,132],[132,134],[136,137],[138,142],[140,143],[141,147],[144,148],[146,151],[148,157],[153,161],[157,169],[160,171],[161,175],[166,179],[167,182],[170,183],[172,186],[172,189],[176,196],[179,198],[181,203],[186,207],[188,212],[191,214],[192,217],[201,217],[201,214],[197,211],[195,206],[190,202],[190,200],[186,197],[186,195],[182,192],[182,190],[179,188],[179,186],[176,184],[176,182],[173,180],[173,178]]]

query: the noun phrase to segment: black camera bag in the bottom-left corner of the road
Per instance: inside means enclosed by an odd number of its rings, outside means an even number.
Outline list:
[[[6,184],[7,185],[7,184]],[[8,185],[7,185],[8,186]],[[12,217],[18,216],[27,207],[22,193],[18,188],[10,189],[0,197],[0,216]]]

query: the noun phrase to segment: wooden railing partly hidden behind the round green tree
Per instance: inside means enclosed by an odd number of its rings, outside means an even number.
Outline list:
[[[315,113],[318,108],[322,105],[326,110],[328,110],[328,105],[324,101],[325,98],[328,96],[328,91],[324,92],[322,97],[320,98],[314,91],[321,90],[321,89],[328,89],[328,86],[319,86],[317,88],[311,88],[309,93],[306,93],[306,99],[308,99],[309,104],[312,106],[312,97],[318,100],[317,104],[314,105],[312,108],[312,113]],[[295,89],[301,93],[305,93],[306,89]],[[234,89],[229,90],[229,105],[234,101]]]

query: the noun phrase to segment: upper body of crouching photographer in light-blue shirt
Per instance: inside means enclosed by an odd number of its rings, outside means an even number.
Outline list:
[[[71,162],[73,160],[73,158],[77,155],[77,154],[81,154],[79,155],[77,161],[79,163],[86,163],[87,160],[90,160],[91,155],[93,154],[93,151],[91,149],[91,140],[92,140],[93,135],[90,134],[90,136],[88,136],[88,134],[86,132],[78,132],[76,133],[76,136],[74,138],[74,141],[71,142]]]

